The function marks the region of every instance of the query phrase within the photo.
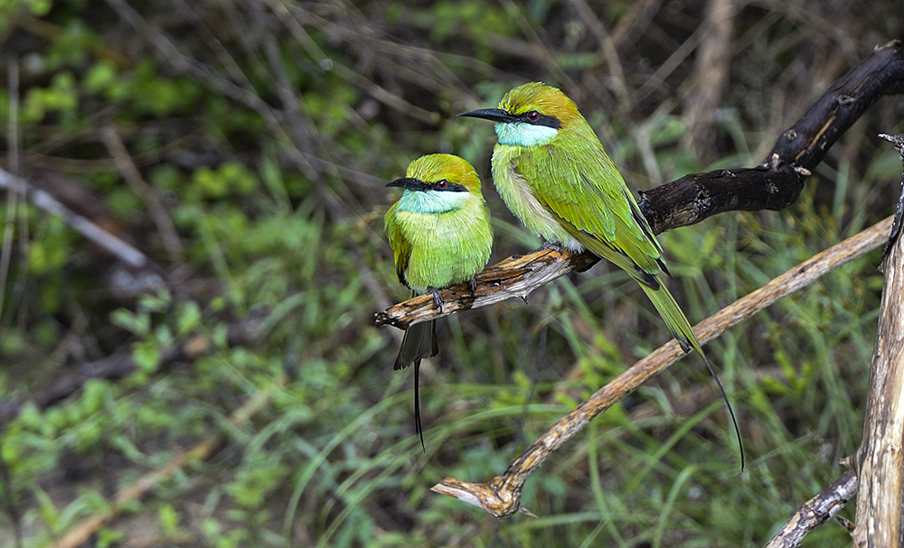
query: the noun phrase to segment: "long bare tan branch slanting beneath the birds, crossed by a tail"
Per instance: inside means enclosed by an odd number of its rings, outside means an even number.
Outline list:
[[[813,283],[833,268],[852,261],[881,246],[889,234],[891,218],[826,249],[804,263],[787,271],[753,293],[733,302],[726,308],[694,326],[694,333],[702,343],[718,337],[725,330],[738,325],[757,311],[778,299]],[[431,490],[456,497],[468,504],[485,509],[496,517],[513,515],[521,506],[521,490],[532,472],[540,468],[554,450],[580,432],[599,413],[630,394],[651,376],[671,366],[683,353],[674,339],[638,361],[609,384],[600,388],[571,413],[552,425],[539,440],[524,450],[508,469],[487,483],[472,483],[446,478]]]

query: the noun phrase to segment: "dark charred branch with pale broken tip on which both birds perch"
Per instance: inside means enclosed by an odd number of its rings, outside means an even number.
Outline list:
[[[893,41],[873,51],[870,57],[838,79],[806,114],[783,133],[767,159],[755,168],[694,173],[641,193],[640,209],[654,233],[698,223],[726,211],[778,210],[797,200],[810,170],[823,161],[829,147],[882,95],[904,92],[904,48]],[[564,262],[554,265],[555,262]],[[477,275],[475,297],[466,285],[443,293],[446,303],[434,309],[428,297],[417,297],[379,312],[376,324],[405,329],[456,311],[523,297],[576,265],[596,261],[589,252],[580,258],[552,255],[541,250],[515,256],[491,267],[490,275]],[[542,275],[526,272],[542,265]],[[485,273],[484,273],[485,274]],[[510,283],[517,280],[513,291]],[[513,282],[514,283],[514,282]],[[494,294],[500,293],[500,294]],[[479,299],[476,298],[479,296]]]

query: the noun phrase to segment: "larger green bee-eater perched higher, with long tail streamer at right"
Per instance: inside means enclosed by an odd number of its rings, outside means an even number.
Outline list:
[[[623,268],[640,283],[681,348],[693,348],[706,359],[690,322],[659,280],[659,274],[669,274],[662,247],[570,98],[557,88],[530,83],[506,93],[498,108],[458,116],[495,122],[493,182],[527,228],[549,244],[589,249]],[[730,405],[729,411],[735,422]]]

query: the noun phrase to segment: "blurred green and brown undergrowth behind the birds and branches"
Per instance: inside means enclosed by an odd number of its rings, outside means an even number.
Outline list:
[[[212,435],[209,459],[118,508],[87,545],[765,543],[860,443],[878,252],[707,346],[747,469],[690,356],[532,477],[536,518],[499,521],[428,488],[501,472],[663,343],[636,284],[597,265],[528,304],[446,320],[422,368],[426,454],[410,370],[391,371],[400,332],[372,327],[408,294],[382,235],[398,194],[383,184],[420,154],[476,165],[493,260],[540,244],[489,182],[492,126],[458,112],[525,81],[559,86],[645,190],[759,163],[833,79],[902,35],[898,0],[712,4],[731,6],[730,27],[678,0],[5,2],[2,79],[14,64],[18,86],[0,91],[4,168],[154,265],[129,269],[5,195],[0,543],[52,542]],[[876,134],[902,114],[900,98],[871,107],[793,207],[660,237],[691,320],[889,215],[900,165]],[[87,379],[105,364],[111,378]],[[66,379],[71,395],[53,393]],[[250,421],[229,421],[255,398]],[[807,543],[850,540],[829,523]]]

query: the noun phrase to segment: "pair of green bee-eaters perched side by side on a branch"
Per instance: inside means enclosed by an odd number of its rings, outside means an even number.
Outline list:
[[[505,94],[498,108],[458,116],[495,122],[493,182],[515,217],[548,245],[589,249],[631,274],[681,348],[703,356],[690,322],[659,279],[659,274],[669,274],[662,247],[570,98],[557,88],[531,83]],[[386,213],[399,280],[419,293],[433,293],[441,305],[438,288],[473,280],[490,256],[493,236],[480,180],[465,160],[430,154],[412,162],[405,178],[387,186],[405,189]],[[422,358],[436,354],[433,321],[424,322],[406,331],[395,362],[396,369],[415,365],[421,443],[418,367]],[[730,405],[729,410],[734,422]]]

